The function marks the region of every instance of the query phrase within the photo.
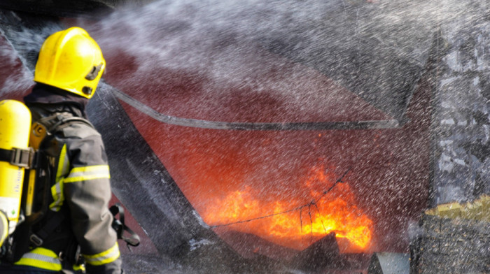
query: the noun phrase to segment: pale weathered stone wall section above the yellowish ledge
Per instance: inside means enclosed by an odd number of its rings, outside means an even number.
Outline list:
[[[440,24],[431,206],[490,193],[489,3],[464,3]]]

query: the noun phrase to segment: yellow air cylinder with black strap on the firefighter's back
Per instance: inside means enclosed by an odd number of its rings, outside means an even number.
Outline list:
[[[30,129],[31,112],[25,104],[15,100],[0,101],[0,148],[27,149]],[[0,161],[0,245],[19,221],[23,182],[23,167]]]

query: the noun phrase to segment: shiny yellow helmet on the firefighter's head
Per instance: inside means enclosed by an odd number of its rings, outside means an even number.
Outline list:
[[[71,27],[44,41],[34,71],[34,81],[92,98],[106,68],[97,42],[87,31]]]

